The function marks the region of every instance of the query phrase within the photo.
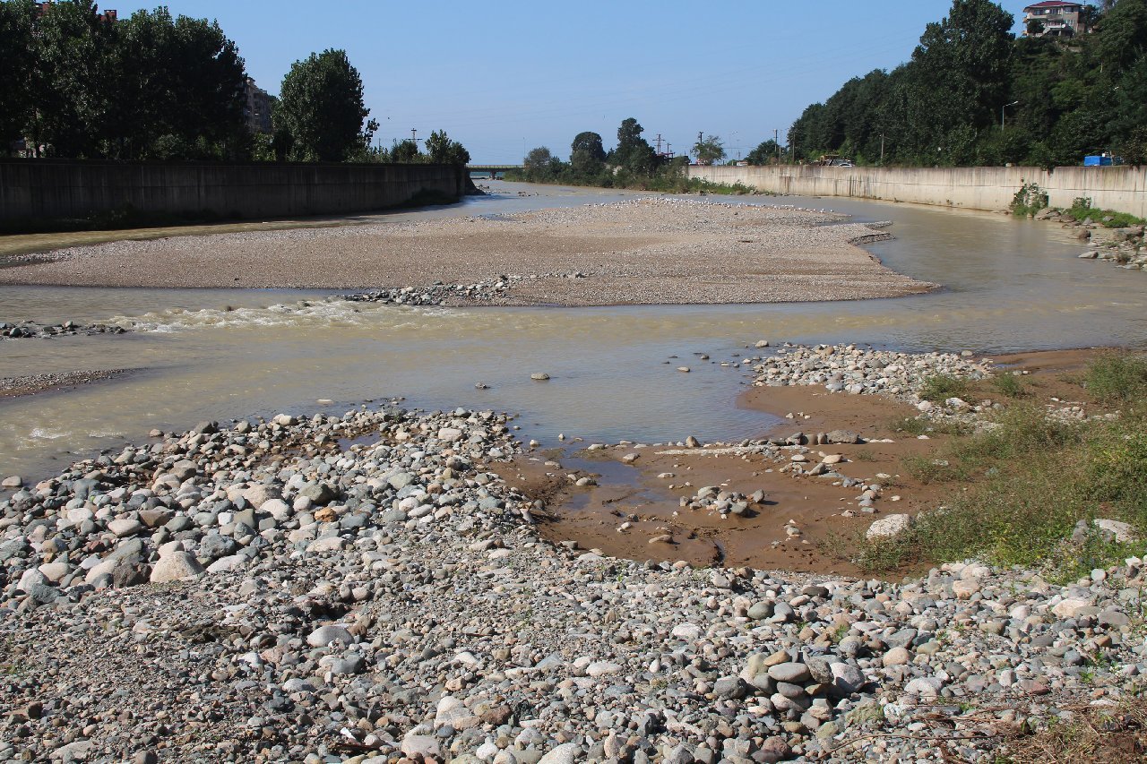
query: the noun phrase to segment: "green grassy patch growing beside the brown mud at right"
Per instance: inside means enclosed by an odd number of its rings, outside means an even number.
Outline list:
[[[1013,398],[992,427],[905,460],[915,480],[947,486],[943,508],[894,539],[855,538],[837,548],[848,546],[873,572],[978,558],[1063,580],[1141,552],[1141,543],[1102,538],[1091,521],[1121,520],[1147,536],[1147,362],[1103,357],[1084,379],[1122,404],[1118,419],[1061,422]],[[1071,540],[1080,520],[1089,532]]]

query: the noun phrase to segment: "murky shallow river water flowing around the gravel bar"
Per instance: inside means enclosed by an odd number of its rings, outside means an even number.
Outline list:
[[[493,187],[499,193],[489,197],[380,220],[634,196]],[[405,397],[407,406],[515,412],[523,436],[551,442],[559,432],[587,441],[747,437],[775,420],[738,410],[743,369],[716,361],[739,359],[762,338],[977,353],[1147,345],[1147,274],[1077,259],[1080,245],[1056,226],[856,200],[731,201],[891,220],[896,239],[867,249],[944,288],[864,302],[466,310],[319,303],[287,312],[273,306],[329,293],[0,287],[0,320],[132,319],[146,329],[0,343],[0,376],[139,369],[68,392],[0,400],[0,474],[41,477],[100,449],[142,441],[151,428],[283,411],[342,413],[391,397]],[[694,356],[702,352],[713,362]],[[680,365],[693,372],[676,372]],[[531,372],[552,380],[533,382]]]

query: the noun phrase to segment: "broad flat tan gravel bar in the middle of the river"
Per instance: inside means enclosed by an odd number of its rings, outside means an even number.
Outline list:
[[[861,299],[931,289],[857,247],[888,236],[813,210],[656,197],[77,247],[11,258],[0,283],[362,290],[508,276],[502,305]],[[453,304],[469,303],[459,296]]]

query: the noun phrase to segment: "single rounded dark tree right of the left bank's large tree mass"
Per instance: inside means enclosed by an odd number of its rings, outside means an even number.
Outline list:
[[[345,50],[312,53],[283,78],[278,116],[290,133],[291,158],[344,162],[365,151],[377,128],[362,103],[362,78]]]

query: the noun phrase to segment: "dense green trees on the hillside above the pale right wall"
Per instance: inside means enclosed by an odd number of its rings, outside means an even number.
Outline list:
[[[1147,162],[1147,0],[1086,6],[1090,32],[1016,38],[990,0],[953,0],[912,57],[845,83],[788,132],[790,157],[1040,166]]]

